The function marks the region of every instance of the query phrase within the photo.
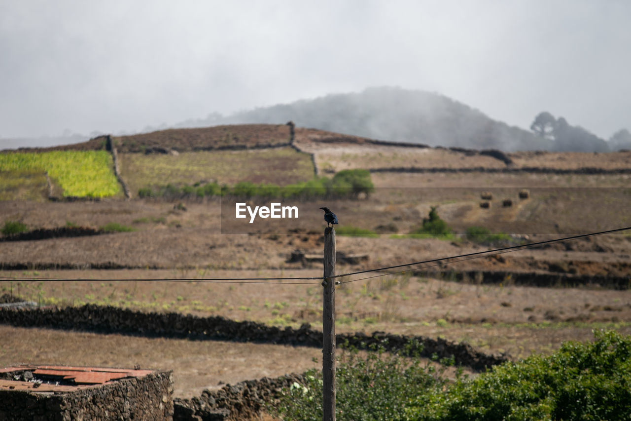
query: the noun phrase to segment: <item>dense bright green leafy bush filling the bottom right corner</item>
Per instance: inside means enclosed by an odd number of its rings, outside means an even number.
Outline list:
[[[565,343],[550,357],[459,379],[447,393],[408,407],[403,419],[631,419],[631,337],[615,331],[595,336],[593,343]]]

